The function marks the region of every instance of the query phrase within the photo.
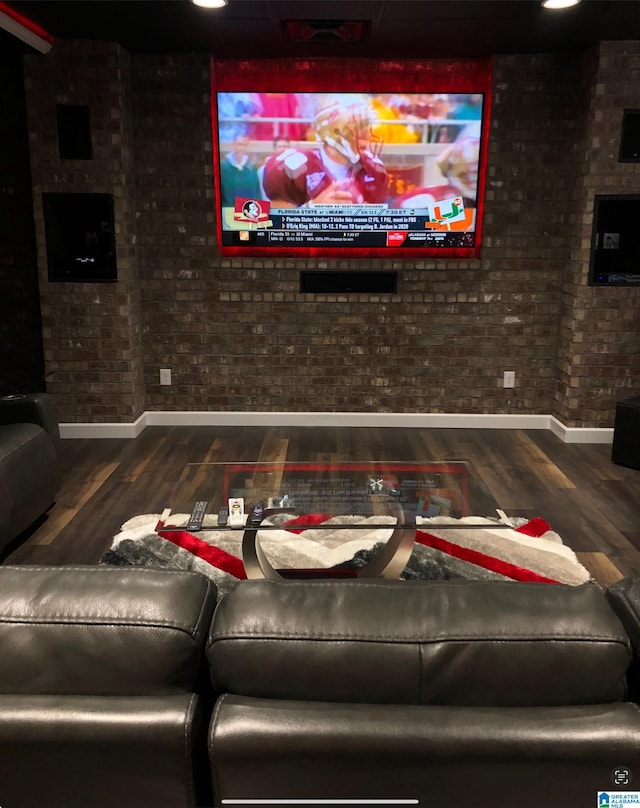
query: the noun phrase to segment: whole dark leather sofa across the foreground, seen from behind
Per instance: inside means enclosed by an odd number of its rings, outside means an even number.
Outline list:
[[[0,566],[0,805],[594,805],[640,776],[640,584],[608,597],[243,581],[214,612],[197,573]]]

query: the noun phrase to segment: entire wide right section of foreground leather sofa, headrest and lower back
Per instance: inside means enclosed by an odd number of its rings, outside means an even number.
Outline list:
[[[586,808],[640,779],[640,588],[253,581],[217,608],[219,800]],[[619,786],[617,786],[619,788]],[[346,803],[345,803],[346,804]]]

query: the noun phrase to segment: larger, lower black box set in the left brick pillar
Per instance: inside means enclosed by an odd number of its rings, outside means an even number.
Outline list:
[[[111,194],[42,194],[50,281],[118,278]]]

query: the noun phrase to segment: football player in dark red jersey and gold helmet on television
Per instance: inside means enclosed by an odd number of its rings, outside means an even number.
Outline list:
[[[382,141],[371,131],[365,103],[334,99],[315,116],[318,145],[288,149],[265,163],[264,190],[275,205],[386,202],[389,178]]]

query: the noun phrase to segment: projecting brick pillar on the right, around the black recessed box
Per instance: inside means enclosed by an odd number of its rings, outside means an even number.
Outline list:
[[[598,57],[581,89],[579,183],[570,197],[578,238],[563,273],[556,407],[565,423],[612,426],[614,402],[640,386],[640,289],[589,287],[587,274],[595,195],[640,193],[640,163],[618,162],[623,110],[639,105],[640,42],[602,43]]]

